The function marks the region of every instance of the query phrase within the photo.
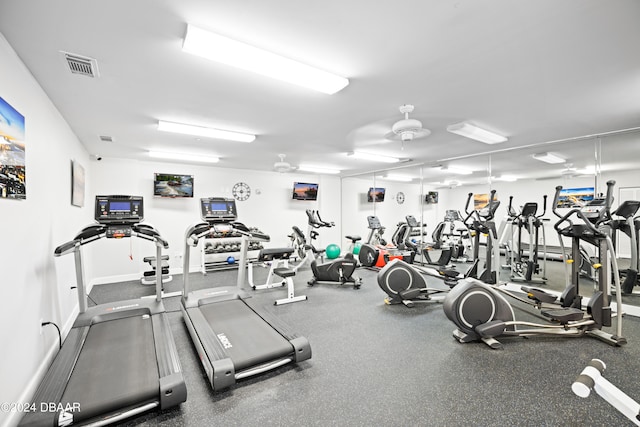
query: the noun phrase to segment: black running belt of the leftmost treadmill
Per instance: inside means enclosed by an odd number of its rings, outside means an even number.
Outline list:
[[[91,326],[61,403],[79,403],[74,424],[159,398],[159,375],[149,316]]]

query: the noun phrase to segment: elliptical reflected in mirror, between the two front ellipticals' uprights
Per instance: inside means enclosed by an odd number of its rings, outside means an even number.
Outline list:
[[[509,213],[511,216],[511,235],[512,241],[515,234],[515,242],[510,248],[511,256],[511,280],[526,281],[536,283],[546,283],[547,270],[547,240],[545,237],[544,224],[542,218],[547,213],[547,195],[543,196],[542,214],[536,215],[538,212],[538,204],[536,202],[527,202],[524,204],[519,214],[516,214],[512,207],[513,196],[509,197]],[[515,231],[514,231],[515,230]],[[529,235],[527,247],[527,255],[525,256],[524,245],[522,241],[523,230]],[[542,265],[540,265],[540,230],[542,230]],[[538,277],[534,277],[537,275]]]

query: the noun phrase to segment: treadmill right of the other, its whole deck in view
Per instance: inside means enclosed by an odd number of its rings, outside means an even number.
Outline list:
[[[246,265],[249,242],[269,241],[269,236],[236,222],[233,199],[200,199],[199,222],[186,231],[182,314],[213,390],[237,380],[311,357],[306,338],[288,331],[278,318],[259,311],[244,291],[246,271],[240,267],[236,286],[201,290],[189,288],[189,253],[210,233],[242,236],[240,266]]]

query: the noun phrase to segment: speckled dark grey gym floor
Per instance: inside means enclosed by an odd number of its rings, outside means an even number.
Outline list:
[[[460,267],[464,268],[464,267]],[[561,289],[562,264],[548,265],[549,288]],[[257,275],[259,282],[266,273]],[[237,271],[191,273],[194,288],[235,284]],[[440,304],[414,308],[383,303],[376,273],[359,269],[360,289],[308,287],[309,269],[295,277],[308,301],[273,306],[284,288],[252,291],[311,343],[311,360],[211,391],[179,312],[165,305],[188,388],[187,402],[153,411],[125,425],[166,426],[595,426],[627,425],[622,415],[592,395],[580,399],[571,383],[592,358],[608,365],[606,377],[640,398],[640,320],[626,317],[629,343],[610,347],[593,338],[501,339],[503,350],[460,344]],[[585,287],[592,287],[585,281]],[[165,291],[179,290],[174,276]],[[98,303],[152,294],[139,282],[94,287]],[[635,298],[635,297],[625,297]],[[519,312],[516,311],[516,315]]]

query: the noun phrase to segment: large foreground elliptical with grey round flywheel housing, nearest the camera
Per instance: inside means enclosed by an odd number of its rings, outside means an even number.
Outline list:
[[[615,181],[607,182],[607,198],[605,209],[608,210],[613,199],[613,185]],[[533,336],[560,335],[568,337],[592,336],[613,346],[626,344],[622,336],[622,299],[620,294],[620,280],[618,265],[613,251],[613,244],[609,236],[610,227],[606,221],[593,223],[580,209],[571,209],[565,215],[557,212],[557,202],[562,186],[556,187],[553,210],[560,217],[554,225],[559,235],[572,239],[572,251],[577,255],[580,241],[584,240],[596,244],[600,248],[602,266],[599,271],[599,289],[595,291],[587,303],[586,312],[582,310],[582,297],[579,291],[579,266],[572,264],[571,283],[566,287],[556,303],[556,297],[543,290],[522,287],[531,301],[507,292],[499,286],[492,286],[478,280],[467,279],[461,281],[447,294],[443,309],[446,316],[457,326],[453,332],[454,338],[461,343],[482,341],[491,348],[502,348],[496,339],[499,336]],[[600,214],[606,218],[607,213]],[[609,257],[610,256],[610,257]],[[612,309],[609,301],[609,283],[611,271],[616,289],[616,331],[607,333],[603,327],[612,326]],[[521,302],[535,306],[541,317],[548,320],[548,324],[539,324],[515,319],[513,307],[505,295]],[[537,315],[535,313],[532,313]],[[519,326],[529,329],[518,329]]]

